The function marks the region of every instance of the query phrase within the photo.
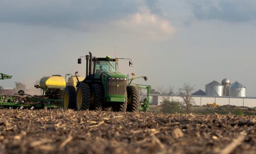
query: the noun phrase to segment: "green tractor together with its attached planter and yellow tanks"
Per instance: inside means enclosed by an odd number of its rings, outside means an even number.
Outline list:
[[[90,52],[89,52],[90,53]],[[64,108],[75,110],[113,110],[113,111],[147,111],[149,110],[149,92],[150,85],[134,84],[132,81],[140,76],[132,78],[119,73],[118,60],[127,58],[104,58],[92,57],[86,55],[86,78],[71,76],[68,83],[62,76],[49,76],[40,80],[40,85],[36,88],[43,88],[42,96],[31,96],[29,94],[12,94],[0,96],[0,107],[12,108]],[[129,66],[132,66],[131,59],[128,59]],[[78,59],[81,64],[81,57]],[[0,73],[0,79],[10,79],[12,76]],[[44,81],[44,82],[43,82]],[[63,87],[63,85],[66,86]],[[62,92],[59,92],[59,86],[64,88],[63,99],[59,99]],[[139,89],[147,90],[147,98],[140,101]]]

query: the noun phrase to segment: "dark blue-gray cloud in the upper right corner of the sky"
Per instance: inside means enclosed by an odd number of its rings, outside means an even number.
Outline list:
[[[256,0],[188,1],[199,20],[243,22],[256,19]]]

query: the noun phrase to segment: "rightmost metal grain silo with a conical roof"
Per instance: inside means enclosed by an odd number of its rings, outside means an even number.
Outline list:
[[[229,96],[232,97],[246,97],[247,88],[241,83],[235,81],[228,87]]]

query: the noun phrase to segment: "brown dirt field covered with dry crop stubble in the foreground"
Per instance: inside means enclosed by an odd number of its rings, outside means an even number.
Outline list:
[[[255,154],[256,117],[0,109],[0,153]]]

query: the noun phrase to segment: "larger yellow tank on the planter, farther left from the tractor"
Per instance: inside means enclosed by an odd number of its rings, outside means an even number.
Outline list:
[[[66,87],[65,78],[60,75],[53,75],[41,78],[40,87],[42,89],[61,89]]]

